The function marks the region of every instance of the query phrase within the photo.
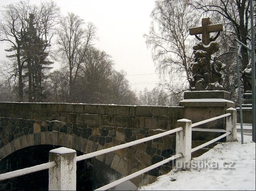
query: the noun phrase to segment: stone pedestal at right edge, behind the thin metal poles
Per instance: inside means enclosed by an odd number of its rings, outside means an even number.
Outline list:
[[[252,91],[246,91],[242,104],[243,123],[252,123]],[[237,122],[240,123],[240,107],[237,107]]]

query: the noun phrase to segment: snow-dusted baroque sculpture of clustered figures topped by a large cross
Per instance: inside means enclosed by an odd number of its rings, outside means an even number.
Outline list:
[[[202,19],[201,27],[189,29],[189,34],[195,35],[199,40],[193,46],[195,56],[190,64],[193,75],[189,77],[188,82],[191,91],[223,90],[220,71],[226,65],[219,60],[218,56],[211,59],[211,55],[219,50],[215,40],[220,31],[223,31],[223,25],[210,24],[209,18]],[[218,32],[218,34],[216,37],[210,37],[210,32]],[[202,34],[202,39],[197,36],[198,34]]]

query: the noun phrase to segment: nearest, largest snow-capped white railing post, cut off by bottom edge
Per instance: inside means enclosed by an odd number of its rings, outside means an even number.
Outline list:
[[[49,190],[76,190],[76,151],[66,147],[49,152],[49,162],[56,166],[49,168]]]

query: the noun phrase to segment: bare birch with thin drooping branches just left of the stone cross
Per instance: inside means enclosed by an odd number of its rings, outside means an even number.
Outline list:
[[[152,46],[152,57],[160,72],[185,72],[190,76],[192,56],[189,28],[195,27],[197,15],[189,0],[157,0],[151,13],[153,19],[146,44]],[[157,27],[154,26],[157,24]]]

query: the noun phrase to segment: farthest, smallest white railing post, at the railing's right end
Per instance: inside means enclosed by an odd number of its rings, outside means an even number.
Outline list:
[[[231,116],[226,117],[226,131],[231,132],[227,135],[226,141],[233,142],[237,140],[237,110],[235,108],[228,108],[226,113],[230,113]]]

